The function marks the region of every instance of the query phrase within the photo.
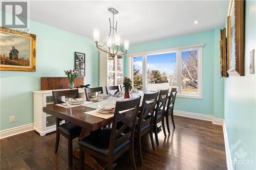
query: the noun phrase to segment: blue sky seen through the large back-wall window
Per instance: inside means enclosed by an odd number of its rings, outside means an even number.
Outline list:
[[[197,51],[194,52],[197,57]],[[189,56],[189,51],[181,52],[183,60],[186,60]],[[142,57],[134,58],[134,66],[137,69],[140,69],[142,73]],[[176,53],[166,53],[166,54],[156,54],[147,56],[147,69],[150,70],[160,70],[161,72],[166,72],[167,76],[175,74],[176,70]]]

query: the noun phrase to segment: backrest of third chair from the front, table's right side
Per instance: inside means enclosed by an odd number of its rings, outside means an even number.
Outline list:
[[[155,120],[157,120],[157,116],[163,115],[165,110],[166,101],[168,98],[169,89],[167,90],[160,90],[157,100],[157,107],[155,112]]]

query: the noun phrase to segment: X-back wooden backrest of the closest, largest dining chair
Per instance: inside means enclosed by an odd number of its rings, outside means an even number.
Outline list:
[[[132,100],[116,102],[112,131],[110,135],[110,155],[113,155],[115,147],[122,144],[127,139],[130,139],[131,142],[133,142],[136,117],[140,105],[140,99],[141,96]],[[118,130],[117,121],[123,123],[123,125]],[[122,137],[120,137],[120,134],[123,133],[124,131],[125,134]]]

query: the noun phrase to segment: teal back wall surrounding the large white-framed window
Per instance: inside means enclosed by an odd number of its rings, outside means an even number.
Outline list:
[[[216,118],[223,118],[223,105],[219,105],[220,101],[216,98],[221,98],[220,93],[223,93],[223,80],[219,77],[219,70],[216,64],[219,64],[219,29],[205,31],[195,34],[182,35],[177,37],[165,38],[150,42],[143,42],[130,45],[129,53],[138,53],[145,51],[161,50],[166,48],[186,46],[204,43],[203,47],[203,78],[202,78],[202,92],[203,99],[189,99],[177,98],[175,103],[175,110],[186,111],[192,113],[212,115]],[[217,45],[217,47],[215,47]],[[127,66],[127,57],[126,57]],[[126,76],[128,75],[126,67]],[[216,70],[215,70],[216,69]],[[214,76],[217,72],[218,76]],[[216,81],[216,82],[215,82]],[[214,85],[218,87],[215,88]],[[215,90],[217,95],[215,96]],[[222,100],[222,99],[220,99]],[[218,101],[214,105],[214,101]],[[196,106],[196,107],[195,107]],[[218,109],[217,109],[218,108]],[[216,110],[215,110],[216,109]]]

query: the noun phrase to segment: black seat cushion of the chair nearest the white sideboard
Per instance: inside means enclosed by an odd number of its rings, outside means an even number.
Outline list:
[[[72,123],[61,124],[58,129],[69,136],[79,136],[82,128]]]

